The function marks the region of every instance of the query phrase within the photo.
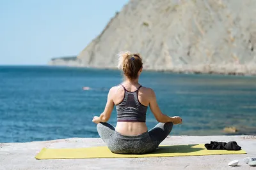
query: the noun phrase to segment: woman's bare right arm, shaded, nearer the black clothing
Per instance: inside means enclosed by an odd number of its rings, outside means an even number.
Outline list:
[[[156,120],[161,123],[166,122],[173,122],[173,124],[180,124],[182,122],[182,119],[180,117],[168,117],[167,115],[164,115],[162,111],[160,110],[157,101],[156,101],[156,94],[154,90],[150,90],[150,97],[149,97],[149,106],[150,110],[154,114],[154,117],[156,117]]]

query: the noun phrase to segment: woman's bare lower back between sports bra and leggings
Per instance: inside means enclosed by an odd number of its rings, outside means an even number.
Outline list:
[[[115,129],[126,136],[136,136],[148,131],[145,122],[117,122]]]

